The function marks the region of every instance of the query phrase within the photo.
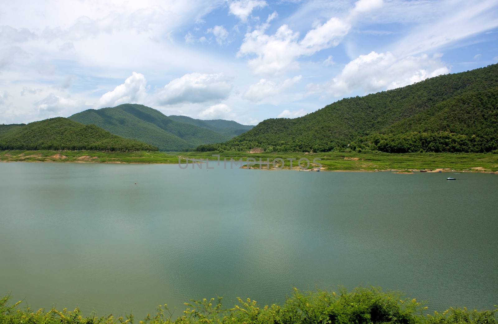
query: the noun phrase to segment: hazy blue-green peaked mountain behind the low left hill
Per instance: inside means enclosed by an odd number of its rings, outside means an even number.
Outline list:
[[[136,104],[88,109],[69,118],[83,124],[97,125],[116,135],[152,144],[161,151],[188,150],[200,144],[226,141],[236,135],[229,131],[215,131],[211,126],[181,122],[176,120],[178,118],[167,117],[159,110]],[[196,120],[186,118],[189,121]],[[209,123],[206,125],[209,126]]]

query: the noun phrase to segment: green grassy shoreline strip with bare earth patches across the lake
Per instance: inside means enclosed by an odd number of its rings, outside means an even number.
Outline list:
[[[294,159],[293,169],[297,170],[298,160],[306,158],[310,161],[308,169],[318,167],[313,164],[313,159],[322,165],[324,171],[401,171],[400,173],[418,170],[442,171],[466,171],[466,172],[497,172],[498,154],[492,153],[381,153],[381,152],[327,152],[327,153],[303,153],[303,152],[273,152],[273,153],[247,153],[240,151],[220,152],[101,152],[101,151],[51,151],[51,150],[9,150],[0,151],[1,162],[75,162],[75,163],[140,163],[140,164],[178,164],[185,163],[186,159],[209,159],[217,161],[213,154],[219,154],[221,163],[226,159],[227,165],[230,159],[235,161],[253,161],[250,166],[253,169],[268,169],[267,165],[260,165],[269,161],[269,169],[290,169],[291,161]],[[276,165],[272,164],[275,158]],[[320,159],[320,160],[318,160]],[[191,161],[189,161],[191,162]],[[306,166],[303,161],[303,166]],[[404,172],[403,172],[404,171]]]

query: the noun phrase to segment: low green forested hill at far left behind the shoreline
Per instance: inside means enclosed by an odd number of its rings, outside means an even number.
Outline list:
[[[97,127],[56,117],[29,124],[0,125],[1,150],[157,151],[157,147],[126,139]]]

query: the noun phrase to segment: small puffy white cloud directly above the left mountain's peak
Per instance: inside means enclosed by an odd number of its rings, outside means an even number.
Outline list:
[[[147,96],[147,82],[141,73],[133,72],[123,84],[113,91],[105,93],[97,104],[98,107],[114,107],[127,103],[140,103]]]

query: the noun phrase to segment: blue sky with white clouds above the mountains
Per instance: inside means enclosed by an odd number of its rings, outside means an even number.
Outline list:
[[[497,63],[497,39],[497,0],[5,1],[0,123],[139,103],[255,124]]]

